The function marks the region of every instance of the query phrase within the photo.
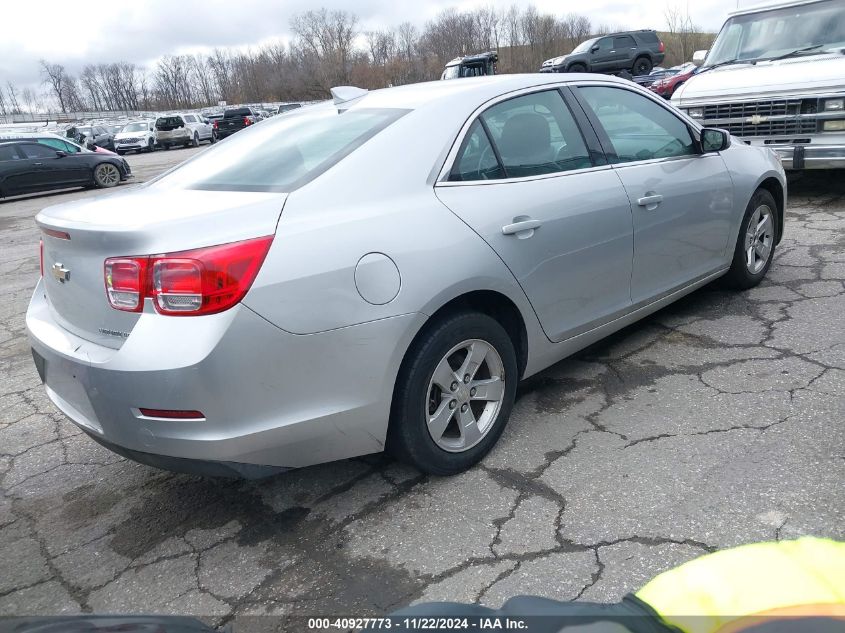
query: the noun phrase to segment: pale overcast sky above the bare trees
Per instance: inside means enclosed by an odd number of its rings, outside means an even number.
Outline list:
[[[541,12],[583,13],[593,24],[625,28],[665,26],[667,4],[689,7],[693,21],[717,30],[725,14],[752,0],[536,0]],[[756,3],[756,2],[755,2]],[[167,53],[194,53],[220,46],[255,45],[290,36],[295,13],[325,6],[358,15],[361,30],[408,20],[418,26],[449,7],[506,8],[514,0],[0,0],[0,84],[40,84],[38,60],[64,64],[72,73],[87,63],[130,61],[150,65]]]

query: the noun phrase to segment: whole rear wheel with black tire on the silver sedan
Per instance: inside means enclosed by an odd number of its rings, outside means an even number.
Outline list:
[[[505,329],[478,312],[433,322],[402,362],[387,450],[433,475],[478,463],[507,424],[519,380]]]

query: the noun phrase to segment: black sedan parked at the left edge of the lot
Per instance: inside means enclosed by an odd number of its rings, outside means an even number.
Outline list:
[[[57,149],[63,139],[0,141],[0,197],[66,189],[114,187],[131,176],[125,160]]]

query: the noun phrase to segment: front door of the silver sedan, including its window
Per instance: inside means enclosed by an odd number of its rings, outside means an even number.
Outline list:
[[[725,265],[733,183],[689,126],[657,98],[619,85],[575,89],[631,200],[634,306]]]

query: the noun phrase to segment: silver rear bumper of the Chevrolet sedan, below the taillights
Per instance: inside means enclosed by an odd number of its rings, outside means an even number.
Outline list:
[[[195,318],[145,312],[112,349],[61,328],[41,282],[26,315],[48,396],[98,442],[162,468],[241,476],[247,465],[381,451],[402,351],[422,319],[303,336],[243,305]],[[205,418],[151,418],[141,407]]]

